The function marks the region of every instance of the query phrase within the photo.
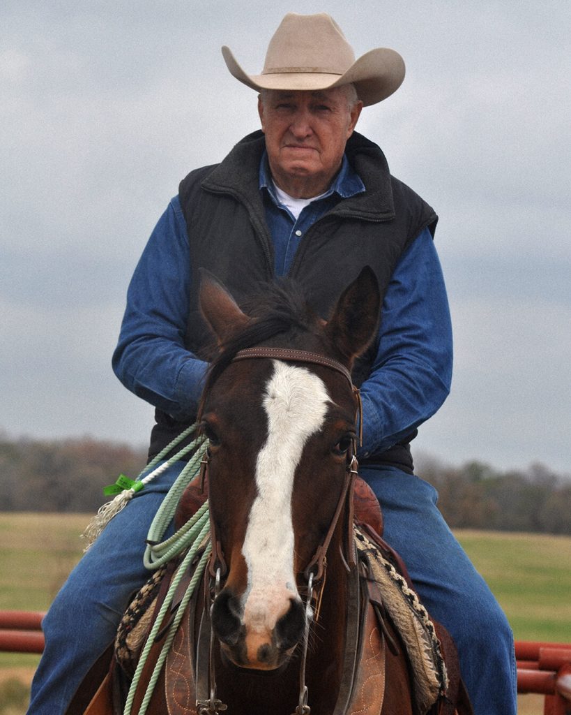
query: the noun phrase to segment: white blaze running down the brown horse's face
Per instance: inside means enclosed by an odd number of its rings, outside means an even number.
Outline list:
[[[250,632],[271,631],[298,598],[293,573],[291,494],[303,446],[325,419],[329,395],[305,368],[274,360],[263,407],[268,439],[256,463],[257,495],[253,501],[243,556],[248,588],[243,595],[244,621]]]

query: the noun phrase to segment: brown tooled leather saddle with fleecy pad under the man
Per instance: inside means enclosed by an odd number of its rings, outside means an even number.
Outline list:
[[[208,485],[194,480],[185,490],[176,514],[176,526],[188,521],[206,501]],[[400,652],[407,656],[414,694],[415,715],[472,713],[458,669],[453,641],[432,621],[418,601],[403,561],[381,536],[383,517],[377,498],[361,479],[355,481],[354,543],[358,553],[354,598],[359,604],[348,618],[348,654],[335,712],[332,715],[378,715],[385,695],[385,666]],[[206,547],[206,543],[203,545]],[[196,562],[200,553],[197,554]],[[178,564],[171,562],[153,574],[139,591],[121,621],[115,658],[106,682],[91,701],[85,715],[119,715],[123,712],[126,683],[133,677],[138,655],[158,614]],[[181,592],[192,573],[183,575]],[[208,577],[206,577],[208,578]],[[208,659],[210,624],[202,608],[206,583],[195,595],[176,632],[166,664],[158,678],[169,715],[196,715],[196,701],[208,694],[208,671],[198,661]],[[202,612],[196,636],[195,614]],[[148,682],[162,647],[162,636],[153,644],[143,669]],[[206,692],[205,692],[206,691]],[[145,693],[139,687],[133,701],[138,711]]]

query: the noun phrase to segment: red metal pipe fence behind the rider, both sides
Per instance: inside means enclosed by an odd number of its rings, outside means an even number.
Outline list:
[[[0,652],[41,653],[44,613],[0,611]],[[571,644],[516,641],[517,691],[545,695],[543,715],[571,715]]]

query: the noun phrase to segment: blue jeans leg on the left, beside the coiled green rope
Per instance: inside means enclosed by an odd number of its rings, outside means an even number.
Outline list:
[[[31,685],[29,715],[63,715],[84,676],[115,638],[131,596],[151,575],[143,566],[148,529],[184,465],[173,464],[136,493],[54,599],[42,623],[46,646]]]

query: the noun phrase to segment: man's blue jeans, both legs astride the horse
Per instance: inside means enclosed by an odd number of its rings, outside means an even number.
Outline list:
[[[46,649],[28,715],[59,715],[113,640],[129,598],[148,578],[148,528],[182,463],[138,492],[81,559],[44,618]],[[475,715],[515,715],[510,627],[446,526],[436,492],[400,470],[362,468],[383,506],[385,538],[400,552],[430,613],[453,634]]]

